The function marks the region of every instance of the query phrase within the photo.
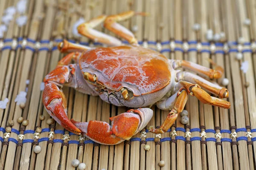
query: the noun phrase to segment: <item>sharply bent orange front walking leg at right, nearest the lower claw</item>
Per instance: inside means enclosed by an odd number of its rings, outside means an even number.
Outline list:
[[[154,129],[152,127],[149,130],[150,132],[165,133],[177,119],[178,113],[183,111],[188,94],[191,96],[196,96],[196,98],[198,98],[204,104],[214,105],[226,109],[230,108],[230,102],[210,96],[198,85],[186,81],[179,81],[177,87],[180,87],[180,90],[176,94],[171,96],[169,99],[164,99],[163,101],[157,103],[157,107],[160,107],[160,109],[172,107],[172,110],[166,117],[161,127],[159,129]],[[174,98],[174,96],[176,96],[176,98]],[[169,106],[166,106],[166,104],[169,104]]]

